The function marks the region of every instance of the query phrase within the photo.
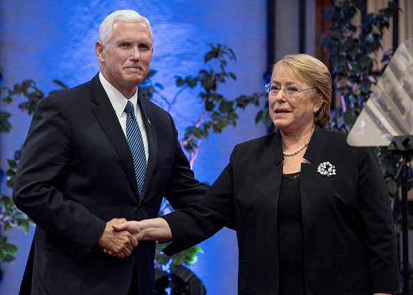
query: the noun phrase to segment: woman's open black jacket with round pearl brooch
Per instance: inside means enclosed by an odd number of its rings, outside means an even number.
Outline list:
[[[398,293],[394,221],[378,158],[349,146],[344,133],[317,127],[302,164],[300,192],[307,295]],[[238,294],[277,294],[277,205],[283,160],[280,132],[235,146],[202,201],[165,215],[168,255],[211,237],[233,221]],[[336,175],[321,175],[324,162]]]

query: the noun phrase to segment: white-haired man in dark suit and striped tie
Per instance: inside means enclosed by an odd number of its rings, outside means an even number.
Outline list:
[[[153,51],[148,20],[113,12],[95,51],[99,74],[40,101],[22,150],[13,199],[37,227],[21,294],[153,294],[154,242],[112,224],[156,217],[163,196],[183,208],[208,187],[194,179],[172,117],[138,97]],[[129,101],[145,150],[139,188]]]

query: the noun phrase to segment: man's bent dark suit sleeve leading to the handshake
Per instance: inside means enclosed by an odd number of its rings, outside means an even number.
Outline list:
[[[63,196],[69,167],[70,121],[54,99],[36,108],[17,167],[13,200],[77,260],[95,246],[106,223]]]

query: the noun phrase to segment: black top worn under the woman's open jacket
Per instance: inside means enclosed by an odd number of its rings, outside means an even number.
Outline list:
[[[304,292],[304,243],[300,196],[300,172],[284,174],[278,201],[277,231],[280,267],[279,294]]]

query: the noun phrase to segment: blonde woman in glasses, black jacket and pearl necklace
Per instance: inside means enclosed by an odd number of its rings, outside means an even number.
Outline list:
[[[172,255],[235,224],[238,294],[398,294],[394,222],[373,149],[349,146],[330,121],[322,62],[286,56],[273,67],[277,132],[235,146],[200,203],[114,226],[172,244]]]

